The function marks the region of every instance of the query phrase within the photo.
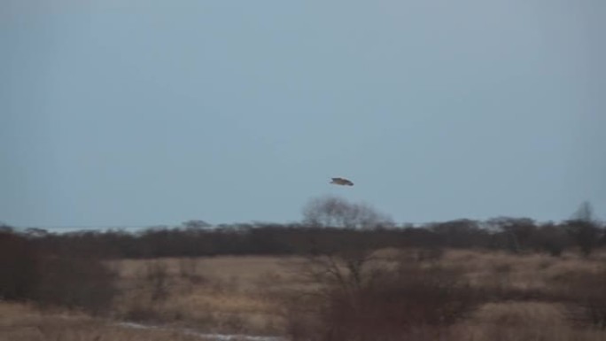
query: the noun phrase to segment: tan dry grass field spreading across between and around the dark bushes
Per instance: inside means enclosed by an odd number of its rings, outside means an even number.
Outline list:
[[[414,253],[400,253],[377,252],[375,265],[389,267],[394,259],[418,261]],[[120,295],[114,299],[108,319],[0,302],[0,340],[201,339],[175,331],[179,329],[288,336],[292,318],[289,297],[305,286],[298,274],[299,261],[257,256],[112,261],[109,266],[120,273]],[[444,330],[419,327],[407,339],[606,340],[606,329],[576,318],[571,302],[550,296],[570,291],[570,278],[604,271],[604,253],[584,259],[575,253],[553,258],[534,253],[448,250],[423,264],[457,269],[470,286],[502,295],[482,302],[465,319]],[[606,291],[606,286],[600,287],[602,283],[596,285],[597,290]],[[116,325],[117,321],[170,329],[128,329]]]

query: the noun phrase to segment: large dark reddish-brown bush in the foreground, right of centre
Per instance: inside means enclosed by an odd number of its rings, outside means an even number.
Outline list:
[[[421,330],[429,337],[428,330],[442,330],[478,305],[478,292],[455,269],[400,262],[395,269],[371,267],[360,278],[347,264],[323,266],[312,273],[318,289],[291,298],[292,339],[399,340]]]

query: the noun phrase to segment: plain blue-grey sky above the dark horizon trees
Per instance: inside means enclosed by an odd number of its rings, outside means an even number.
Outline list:
[[[0,3],[0,221],[606,218],[602,0]],[[330,185],[345,176],[354,187]]]

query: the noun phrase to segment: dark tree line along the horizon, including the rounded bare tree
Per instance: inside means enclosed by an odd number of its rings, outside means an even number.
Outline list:
[[[316,198],[298,223],[238,223],[211,227],[187,221],[177,227],[128,232],[82,230],[52,233],[17,231],[37,250],[101,258],[200,257],[218,255],[300,255],[341,252],[353,247],[484,248],[510,252],[548,252],[559,256],[574,250],[588,256],[606,245],[606,228],[584,203],[570,220],[537,222],[497,217],[486,221],[460,219],[420,226],[397,225],[368,205],[342,198]],[[0,248],[2,245],[0,245]]]

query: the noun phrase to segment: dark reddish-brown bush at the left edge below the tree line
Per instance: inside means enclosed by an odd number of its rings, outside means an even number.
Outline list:
[[[30,240],[0,234],[0,298],[34,300],[105,313],[116,293],[115,274],[94,258],[40,252]]]

